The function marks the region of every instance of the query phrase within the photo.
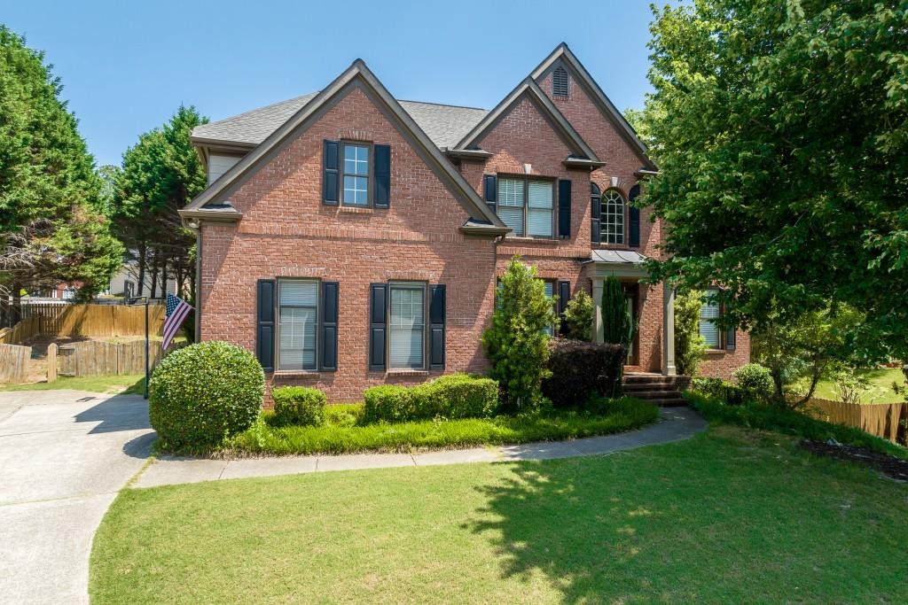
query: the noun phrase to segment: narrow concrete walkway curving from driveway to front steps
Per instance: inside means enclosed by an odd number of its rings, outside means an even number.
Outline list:
[[[665,444],[687,439],[704,429],[706,429],[706,421],[696,415],[693,410],[687,407],[673,407],[662,409],[661,422],[638,431],[589,437],[576,441],[477,447],[469,450],[443,450],[424,454],[313,455],[230,461],[164,456],[143,471],[135,486],[153,487],[173,483],[198,483],[219,479],[350,471],[392,466],[548,460],[591,454],[611,454],[644,445]]]

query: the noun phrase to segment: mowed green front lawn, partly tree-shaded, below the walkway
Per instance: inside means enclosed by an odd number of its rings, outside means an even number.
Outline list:
[[[908,486],[714,426],[609,456],[124,490],[94,603],[908,602]]]

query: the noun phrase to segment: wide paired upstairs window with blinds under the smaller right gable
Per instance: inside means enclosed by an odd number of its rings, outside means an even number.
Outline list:
[[[498,218],[518,237],[554,237],[554,182],[513,177],[498,179]]]

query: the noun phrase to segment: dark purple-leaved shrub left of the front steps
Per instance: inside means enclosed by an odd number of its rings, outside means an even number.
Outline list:
[[[542,394],[557,407],[584,405],[590,395],[620,395],[626,356],[621,345],[553,338],[548,343],[552,375],[542,381]]]

